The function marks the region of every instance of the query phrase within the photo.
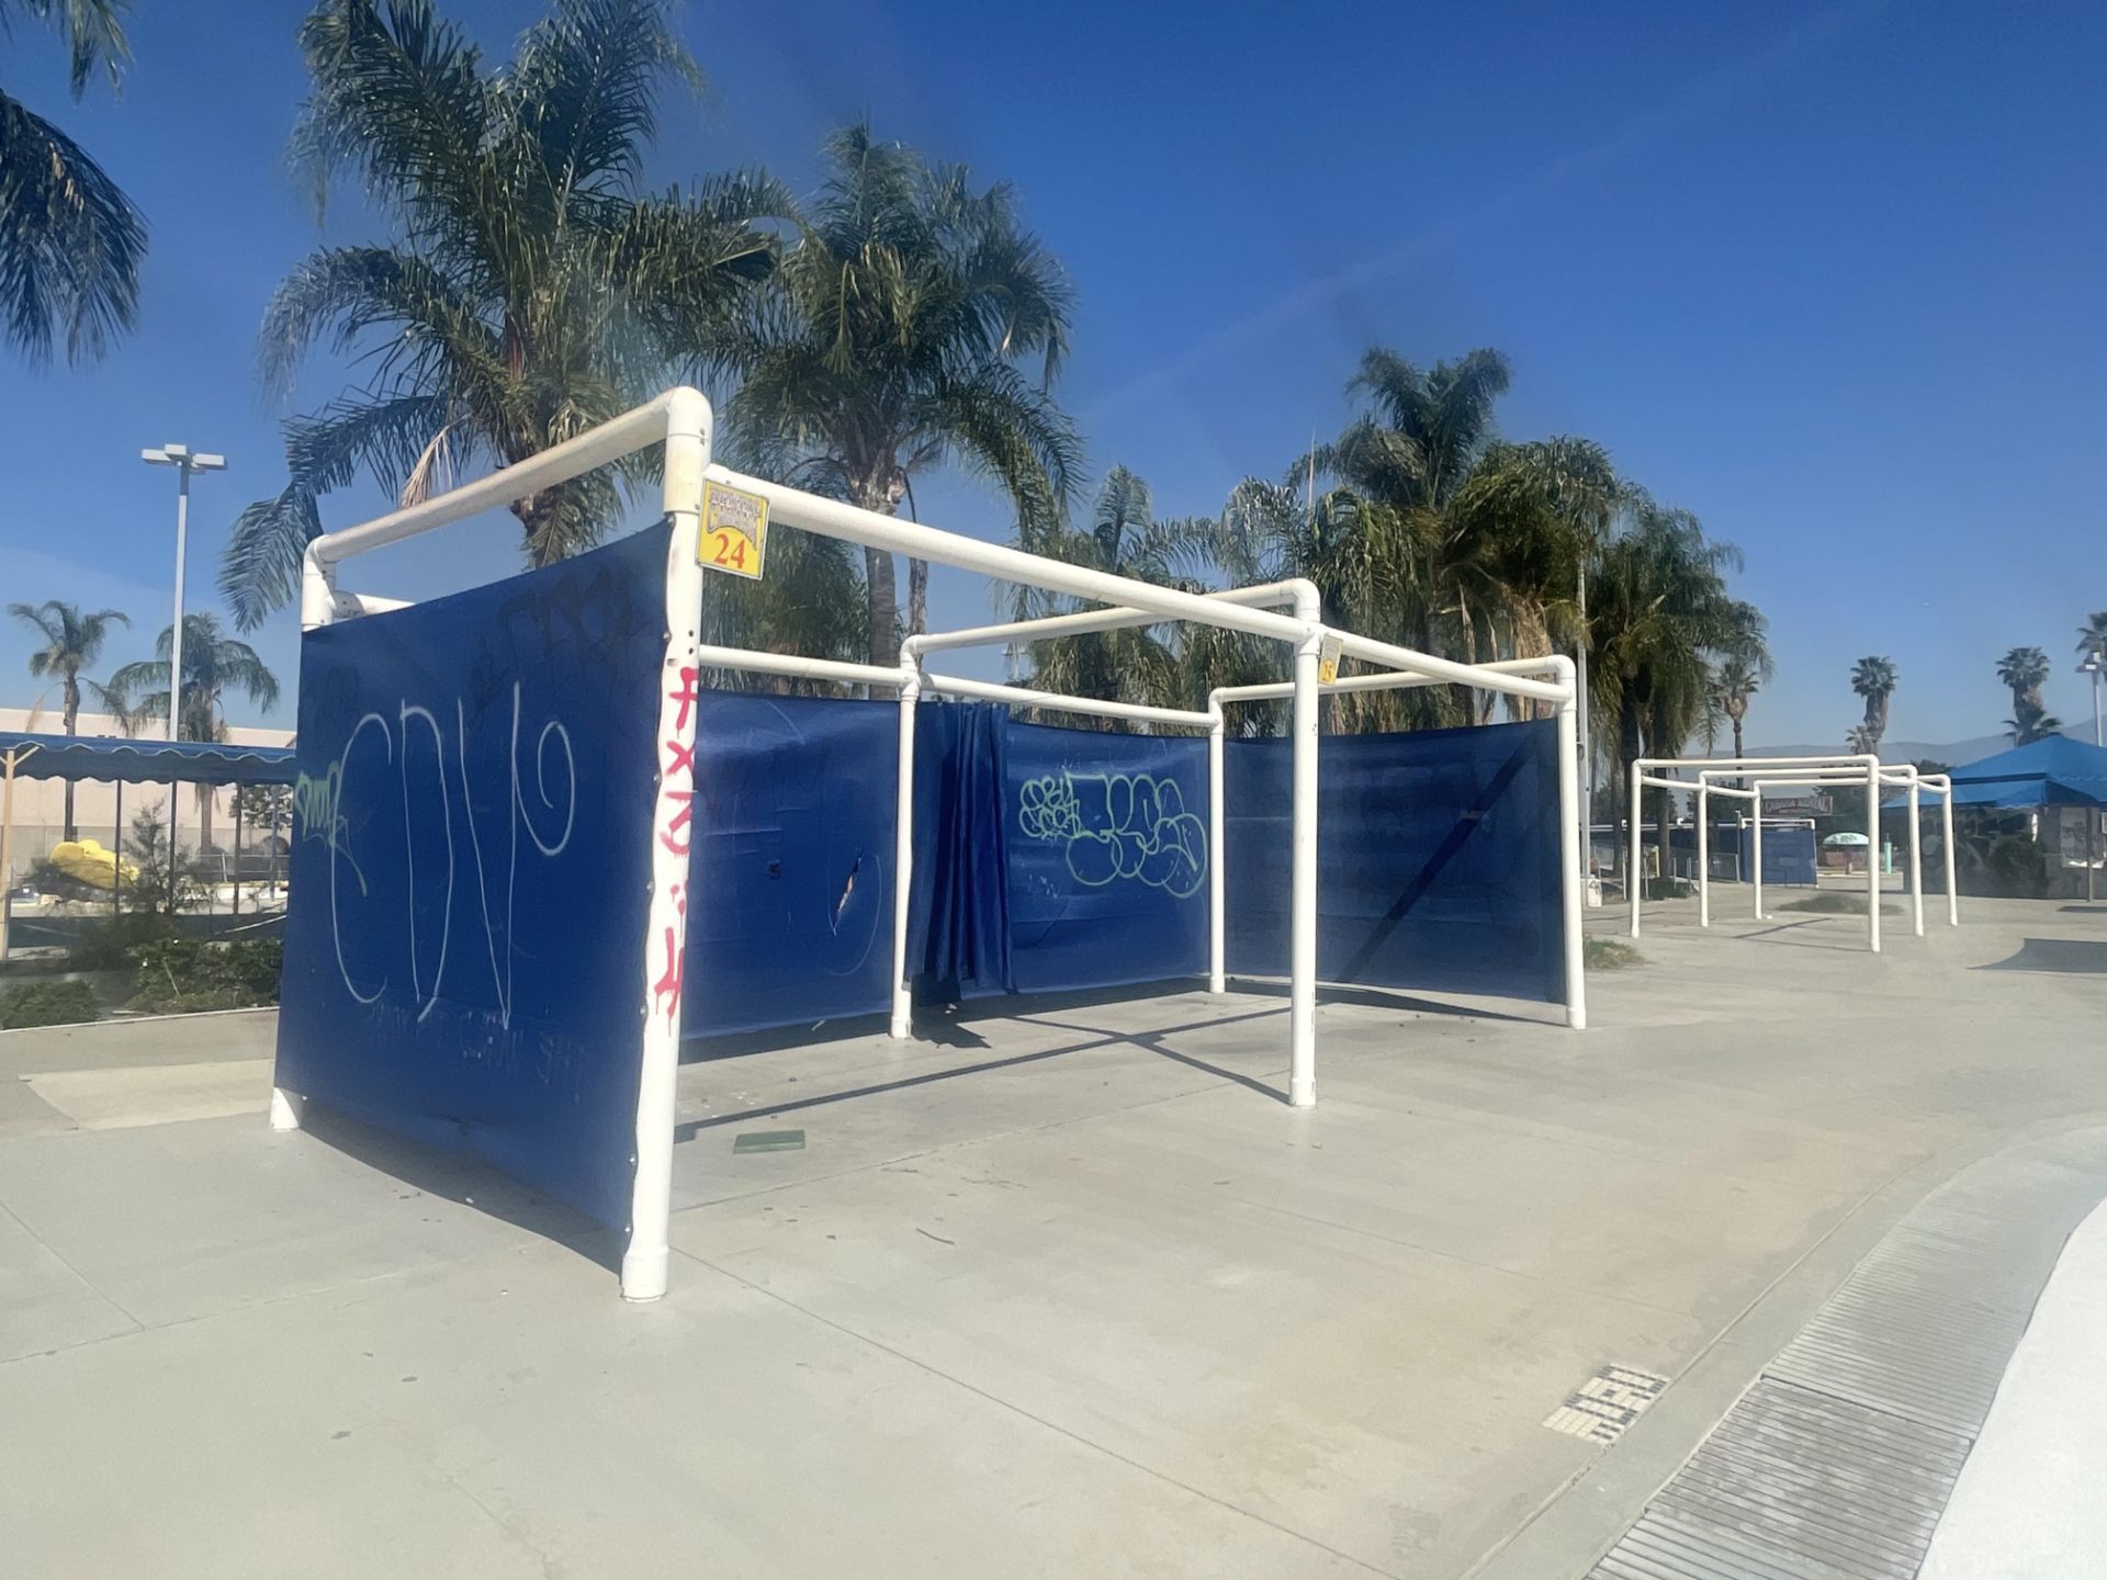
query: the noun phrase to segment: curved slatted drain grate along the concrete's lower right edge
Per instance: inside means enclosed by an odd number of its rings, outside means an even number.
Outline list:
[[[2033,1302],[2107,1194],[2107,1135],[1926,1197],[1785,1346],[1593,1580],[1913,1580]]]

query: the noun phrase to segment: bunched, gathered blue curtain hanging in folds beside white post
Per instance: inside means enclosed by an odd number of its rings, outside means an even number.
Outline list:
[[[1009,710],[925,702],[914,710],[914,902],[908,971],[919,999],[1011,992],[1003,857]]]

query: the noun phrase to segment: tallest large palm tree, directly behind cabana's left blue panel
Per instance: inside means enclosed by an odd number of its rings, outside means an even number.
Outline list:
[[[322,0],[301,23],[295,160],[316,194],[356,177],[398,240],[312,253],[263,314],[272,386],[316,343],[367,367],[287,421],[284,491],[234,522],[219,586],[242,628],[299,586],[322,493],[367,472],[411,503],[474,459],[520,461],[607,421],[769,272],[756,221],[788,196],[765,177],[638,194],[662,84],[700,82],[666,6],[554,0],[495,72],[430,0]],[[592,472],[512,514],[548,565],[615,525],[617,485]]]

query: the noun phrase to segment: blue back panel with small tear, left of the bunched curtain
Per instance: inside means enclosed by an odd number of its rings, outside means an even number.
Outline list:
[[[683,1032],[891,1003],[900,708],[704,691]]]

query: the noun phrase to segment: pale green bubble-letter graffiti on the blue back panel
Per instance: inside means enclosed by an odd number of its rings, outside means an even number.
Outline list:
[[[1066,845],[1068,872],[1100,889],[1119,878],[1184,900],[1207,881],[1207,826],[1176,779],[1155,773],[1047,773],[1018,792],[1026,838]]]

